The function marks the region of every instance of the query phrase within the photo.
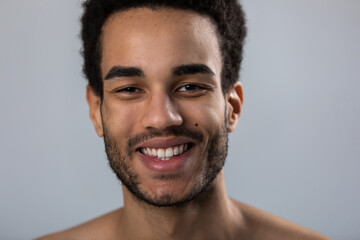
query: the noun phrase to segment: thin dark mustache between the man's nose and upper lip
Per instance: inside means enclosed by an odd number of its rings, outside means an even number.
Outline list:
[[[151,130],[149,132],[140,133],[129,138],[129,140],[127,141],[126,150],[128,152],[128,155],[131,155],[131,153],[134,150],[134,147],[136,145],[139,145],[140,143],[143,143],[145,141],[148,141],[156,137],[170,137],[170,136],[190,138],[191,140],[198,142],[204,140],[204,134],[202,134],[199,131],[190,130],[185,127],[169,127],[163,131]]]

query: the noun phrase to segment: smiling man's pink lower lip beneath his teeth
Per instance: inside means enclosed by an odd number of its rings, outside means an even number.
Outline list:
[[[192,150],[193,147],[190,148],[188,151],[184,152],[183,154],[174,156],[166,161],[162,161],[156,157],[144,155],[140,152],[137,152],[137,154],[140,155],[140,159],[147,168],[152,171],[165,173],[179,171],[181,168],[183,168]]]

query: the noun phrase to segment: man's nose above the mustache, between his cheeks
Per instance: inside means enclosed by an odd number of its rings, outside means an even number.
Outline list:
[[[151,95],[143,115],[142,124],[147,129],[164,130],[183,124],[183,118],[168,93],[158,91]]]

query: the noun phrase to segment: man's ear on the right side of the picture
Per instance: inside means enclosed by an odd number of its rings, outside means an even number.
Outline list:
[[[243,87],[241,82],[236,82],[226,94],[227,131],[234,131],[240,118],[244,102]]]

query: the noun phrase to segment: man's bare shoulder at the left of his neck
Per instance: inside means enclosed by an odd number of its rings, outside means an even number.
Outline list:
[[[91,240],[104,239],[105,236],[106,239],[113,239],[114,229],[117,229],[117,231],[121,230],[118,226],[115,225],[115,223],[119,223],[121,214],[122,209],[117,209],[78,226],[64,231],[52,233],[35,240]]]

